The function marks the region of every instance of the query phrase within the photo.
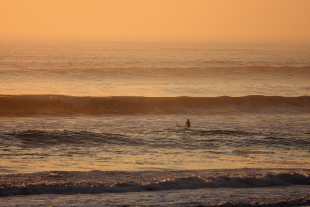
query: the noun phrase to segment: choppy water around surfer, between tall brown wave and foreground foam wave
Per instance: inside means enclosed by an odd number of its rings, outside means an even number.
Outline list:
[[[308,115],[186,117],[5,117],[2,172],[309,166]]]

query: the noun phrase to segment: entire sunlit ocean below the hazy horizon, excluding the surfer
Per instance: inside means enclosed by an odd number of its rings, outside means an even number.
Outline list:
[[[0,43],[1,207],[310,205],[309,42]]]

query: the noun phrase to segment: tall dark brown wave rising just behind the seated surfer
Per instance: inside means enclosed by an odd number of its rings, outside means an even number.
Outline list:
[[[310,96],[77,97],[0,95],[0,115],[310,113]]]

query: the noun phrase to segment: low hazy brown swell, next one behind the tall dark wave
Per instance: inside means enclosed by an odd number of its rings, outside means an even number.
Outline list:
[[[236,61],[191,61],[180,62],[179,67],[169,67],[170,64],[175,65],[175,62],[167,63],[165,67],[105,67],[104,64],[97,63],[77,63],[61,65],[50,65],[47,68],[46,63],[31,62],[31,68],[20,63],[0,62],[3,68],[1,72],[4,74],[35,74],[40,73],[61,76],[73,76],[78,73],[83,76],[94,75],[96,77],[162,77],[162,76],[202,76],[202,77],[218,77],[218,76],[256,76],[256,75],[284,75],[284,76],[301,76],[307,77],[310,74],[309,66],[288,66],[288,62],[236,62]],[[37,65],[38,64],[38,65]],[[143,64],[143,63],[141,63]],[[155,63],[154,63],[155,64]],[[163,63],[162,63],[163,64]],[[294,62],[293,65],[300,64]],[[127,64],[125,64],[126,66]],[[165,65],[165,64],[164,64]],[[262,66],[264,65],[264,66]],[[274,67],[272,65],[278,65]],[[286,66],[283,66],[286,65]],[[308,63],[307,63],[308,65]],[[74,67],[75,66],[75,67]],[[185,67],[184,67],[185,66]],[[186,67],[187,66],[187,67]],[[44,69],[42,69],[44,68]],[[194,71],[189,73],[188,71]]]

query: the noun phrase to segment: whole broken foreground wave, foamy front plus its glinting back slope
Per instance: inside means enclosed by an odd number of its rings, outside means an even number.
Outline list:
[[[5,175],[7,177],[5,182],[2,182],[0,185],[0,196],[310,185],[310,177],[307,173],[296,172],[255,174],[243,172],[232,175],[182,176],[182,172],[171,171],[170,173],[175,173],[174,178],[163,177],[157,180],[154,179],[156,178],[155,176],[151,180],[142,179],[148,173],[148,171],[90,171],[86,173],[50,171],[30,174],[8,174]],[[196,173],[199,173],[199,171]],[[132,180],[128,177],[129,175],[132,177]],[[83,176],[83,179],[81,179],[81,176]],[[142,178],[139,179],[139,176]],[[26,178],[27,180],[25,180]]]

